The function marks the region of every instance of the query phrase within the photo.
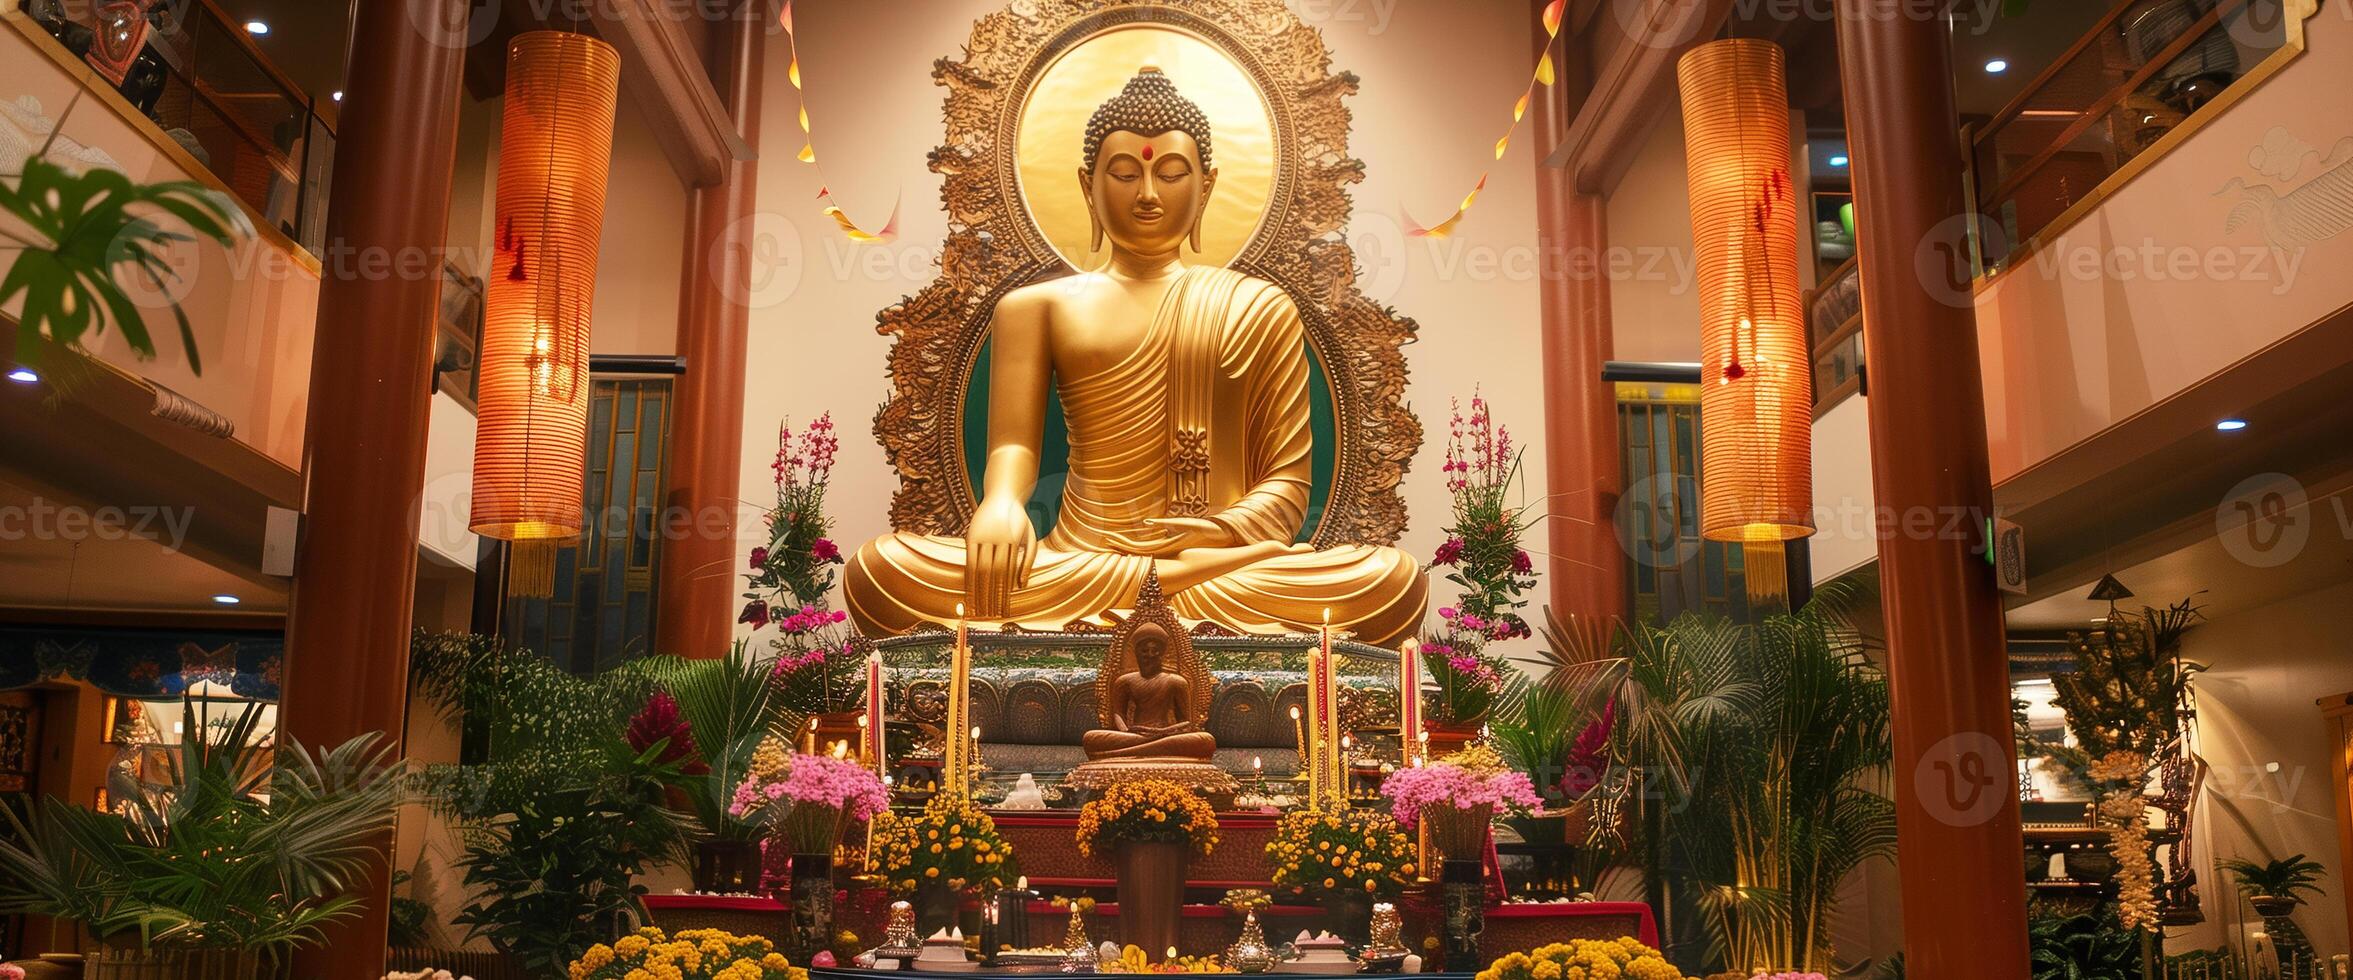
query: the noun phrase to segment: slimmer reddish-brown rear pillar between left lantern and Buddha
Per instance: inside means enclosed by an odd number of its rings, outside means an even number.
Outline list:
[[[720,94],[744,141],[760,146],[765,5],[727,26]],[[661,577],[654,587],[654,653],[722,657],[734,636],[736,506],[744,497],[744,372],[751,344],[751,233],[758,160],[729,160],[718,184],[694,191],[685,280],[678,290],[678,379],[671,419]]]

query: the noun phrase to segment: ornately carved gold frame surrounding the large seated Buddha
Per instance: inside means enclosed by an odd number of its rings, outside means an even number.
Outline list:
[[[1052,82],[1052,68],[1073,49],[1129,28],[1144,33],[1113,45],[1165,40],[1155,35],[1169,33],[1195,40],[1264,97],[1273,179],[1257,231],[1228,266],[1292,294],[1332,384],[1339,445],[1313,544],[1395,544],[1405,532],[1400,483],[1421,445],[1421,419],[1405,408],[1402,351],[1417,327],[1355,287],[1355,254],[1344,229],[1348,184],[1365,179],[1365,163],[1348,155],[1346,97],[1355,94],[1358,80],[1332,71],[1322,33],[1301,24],[1282,0],[1014,0],[974,21],[960,59],[934,61],[932,78],[948,90],[948,132],[929,163],[946,177],[941,205],[948,240],[939,278],[875,313],[875,330],[894,337],[892,393],[875,412],[875,438],[899,471],[892,528],[962,535],[972,518],[962,403],[974,358],[988,339],[988,316],[1005,292],[1071,269],[1024,203],[1016,148],[1028,94]],[[1193,61],[1153,64],[1188,97],[1202,97],[1188,75],[1179,75],[1179,66]],[[1052,181],[1066,181],[1059,186],[1082,207],[1075,132],[1094,106],[1118,94],[1108,66],[1099,78],[1099,92],[1071,94],[1068,106],[1040,104],[1040,113],[1071,113],[1073,137],[1071,163],[1054,167],[1068,177],[1045,177],[1045,186],[1028,191],[1033,198],[1052,193]],[[1125,75],[1118,80],[1125,82]],[[1202,108],[1217,113],[1207,104]],[[1212,115],[1212,165],[1221,172],[1214,198],[1226,198],[1235,155],[1242,153],[1226,141],[1221,122]]]

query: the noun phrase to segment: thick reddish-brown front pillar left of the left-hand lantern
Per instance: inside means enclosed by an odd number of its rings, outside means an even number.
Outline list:
[[[367,42],[351,54],[334,146],[280,711],[285,735],[308,747],[405,730],[464,26],[464,0],[365,2],[353,24]],[[304,949],[296,975],[384,975],[384,865],[360,916]]]

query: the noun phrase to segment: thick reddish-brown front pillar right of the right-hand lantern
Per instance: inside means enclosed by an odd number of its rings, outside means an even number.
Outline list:
[[[1913,14],[1920,16],[1913,16]],[[1894,695],[1897,865],[1918,978],[2026,978],[2026,876],[2009,660],[1993,570],[1986,396],[1965,254],[1960,137],[1941,12],[1838,0],[1854,158],[1871,478]]]

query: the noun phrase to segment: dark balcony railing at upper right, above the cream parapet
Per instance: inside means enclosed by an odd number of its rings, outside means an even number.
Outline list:
[[[2282,0],[2120,0],[1969,127],[1979,273],[1995,273],[2155,163],[2301,49]]]

